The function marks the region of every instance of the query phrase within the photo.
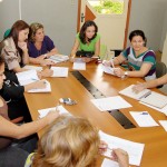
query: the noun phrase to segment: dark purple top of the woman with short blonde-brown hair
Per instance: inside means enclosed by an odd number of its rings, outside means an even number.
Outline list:
[[[53,48],[55,48],[53,41],[48,36],[45,36],[40,50],[36,48],[32,41],[30,41],[28,45],[29,56],[32,58],[37,58],[41,55],[45,55],[48,51],[52,50]]]

